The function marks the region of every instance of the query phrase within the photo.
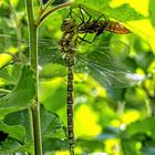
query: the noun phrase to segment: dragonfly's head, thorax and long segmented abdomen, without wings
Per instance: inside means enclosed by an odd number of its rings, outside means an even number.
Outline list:
[[[66,96],[66,114],[68,114],[68,135],[70,154],[74,155],[74,131],[73,131],[73,65],[74,65],[74,49],[76,49],[76,25],[73,19],[63,20],[63,35],[59,41],[61,52],[65,54],[68,66],[68,96]]]

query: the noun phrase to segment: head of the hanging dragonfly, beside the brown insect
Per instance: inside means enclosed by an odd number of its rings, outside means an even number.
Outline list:
[[[63,20],[61,30],[65,32],[74,31],[75,28],[75,20],[72,18],[66,18]]]

